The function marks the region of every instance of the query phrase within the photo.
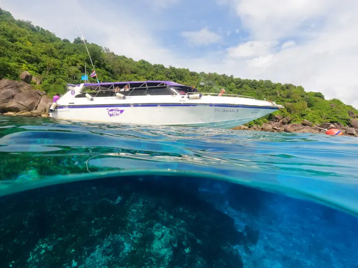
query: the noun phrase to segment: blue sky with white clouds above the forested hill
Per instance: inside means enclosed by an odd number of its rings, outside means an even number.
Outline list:
[[[358,108],[358,0],[0,0],[133,60],[302,85]]]

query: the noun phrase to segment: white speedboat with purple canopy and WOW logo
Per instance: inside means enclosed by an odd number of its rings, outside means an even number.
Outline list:
[[[198,92],[173,81],[68,84],[50,117],[71,121],[230,129],[280,108],[251,96]]]

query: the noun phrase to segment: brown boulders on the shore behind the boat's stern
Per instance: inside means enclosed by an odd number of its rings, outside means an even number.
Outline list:
[[[43,96],[45,95],[42,91],[33,90],[28,83],[2,79],[0,80],[0,113],[36,110],[40,103],[39,108],[42,111],[47,105],[44,103],[48,102],[47,96],[45,96],[47,99],[42,100]]]

